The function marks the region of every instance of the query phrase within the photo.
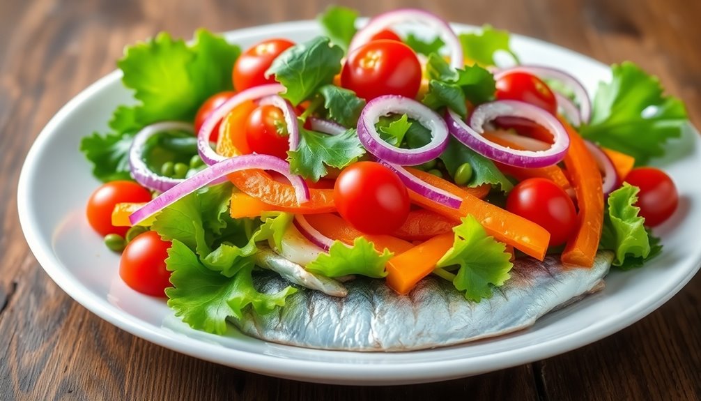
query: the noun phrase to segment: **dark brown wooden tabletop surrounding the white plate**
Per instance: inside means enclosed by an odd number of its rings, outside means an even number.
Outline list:
[[[701,1],[373,0],[364,15],[427,8],[658,74],[701,124]],[[16,188],[34,137],[123,46],[314,18],[326,1],[0,0],[0,400],[701,399],[701,276],[641,322],[564,355],[444,383],[324,386],[274,379],[155,346],[72,301],[29,252]]]

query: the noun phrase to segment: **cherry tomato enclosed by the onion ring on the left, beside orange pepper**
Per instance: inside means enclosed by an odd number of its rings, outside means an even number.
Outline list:
[[[258,154],[278,156],[285,160],[290,142],[283,111],[266,104],[259,106],[246,120],[246,142],[248,148]]]

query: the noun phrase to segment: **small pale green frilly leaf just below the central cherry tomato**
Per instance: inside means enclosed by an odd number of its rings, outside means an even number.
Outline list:
[[[392,255],[393,253],[387,249],[382,254],[377,254],[374,245],[362,237],[355,238],[352,247],[336,240],[328,254],[320,254],[315,261],[306,266],[306,269],[327,277],[360,274],[382,278],[387,276],[385,265]]]

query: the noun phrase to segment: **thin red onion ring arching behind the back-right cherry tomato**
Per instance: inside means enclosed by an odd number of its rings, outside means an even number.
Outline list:
[[[579,104],[578,114],[580,115],[580,123],[589,123],[590,118],[592,116],[592,100],[590,99],[589,94],[587,93],[587,90],[584,88],[582,83],[578,81],[578,79],[576,79],[574,76],[571,76],[570,74],[562,71],[561,69],[552,67],[545,67],[540,65],[517,65],[516,67],[512,67],[509,69],[502,69],[494,75],[494,79],[498,80],[501,78],[501,76],[505,74],[510,74],[512,72],[525,72],[527,74],[533,74],[535,76],[538,76],[538,78],[540,79],[553,79],[555,81],[561,82],[562,84],[564,84],[564,86],[572,90],[572,93],[574,93],[575,100]],[[562,107],[562,109],[567,114],[569,113],[567,109],[571,107],[569,107],[569,105],[567,104],[564,104],[562,102],[563,99],[566,99],[566,97],[558,97],[557,104],[560,107]],[[573,120],[570,121],[572,121],[573,124],[575,123],[575,121]]]

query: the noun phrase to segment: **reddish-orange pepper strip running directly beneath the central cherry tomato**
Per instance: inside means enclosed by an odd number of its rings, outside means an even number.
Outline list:
[[[306,215],[304,216],[307,222],[314,227],[322,235],[331,238],[332,240],[340,240],[348,245],[353,245],[355,238],[364,237],[375,245],[375,250],[379,253],[386,249],[395,254],[405,252],[414,245],[397,237],[377,234],[362,233],[348,224],[342,217],[333,213],[325,213],[322,215]]]

